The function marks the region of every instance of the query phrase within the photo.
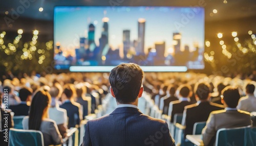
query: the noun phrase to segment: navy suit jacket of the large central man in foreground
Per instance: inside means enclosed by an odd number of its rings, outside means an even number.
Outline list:
[[[88,121],[82,145],[175,145],[166,121],[132,107]]]

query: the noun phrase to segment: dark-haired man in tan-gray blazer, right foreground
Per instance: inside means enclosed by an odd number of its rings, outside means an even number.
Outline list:
[[[250,114],[237,110],[240,94],[238,89],[227,86],[222,90],[222,103],[225,110],[210,113],[202,131],[204,145],[213,145],[216,133],[221,128],[236,128],[251,125]]]

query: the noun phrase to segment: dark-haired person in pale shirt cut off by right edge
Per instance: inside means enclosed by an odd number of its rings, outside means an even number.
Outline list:
[[[256,111],[256,97],[254,96],[255,86],[253,84],[246,85],[246,96],[238,102],[238,109],[254,112]]]

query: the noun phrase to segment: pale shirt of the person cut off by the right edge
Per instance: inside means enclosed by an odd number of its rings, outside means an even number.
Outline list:
[[[239,100],[238,109],[253,112],[256,111],[256,97],[253,94],[248,94]]]

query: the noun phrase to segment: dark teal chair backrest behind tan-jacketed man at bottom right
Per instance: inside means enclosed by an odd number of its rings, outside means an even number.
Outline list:
[[[222,128],[217,131],[217,145],[251,145],[251,126]],[[250,144],[251,143],[251,144]]]

